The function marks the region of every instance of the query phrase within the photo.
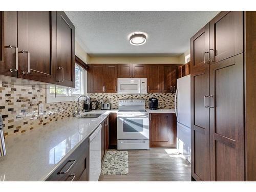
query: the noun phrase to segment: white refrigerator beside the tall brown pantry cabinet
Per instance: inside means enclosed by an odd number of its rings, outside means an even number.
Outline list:
[[[177,149],[191,162],[190,75],[177,79],[175,113],[177,116]]]

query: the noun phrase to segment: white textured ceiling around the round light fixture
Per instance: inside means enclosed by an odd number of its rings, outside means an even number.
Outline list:
[[[76,39],[93,57],[179,56],[189,49],[190,37],[218,11],[66,11]],[[147,33],[147,42],[132,46],[132,32]]]

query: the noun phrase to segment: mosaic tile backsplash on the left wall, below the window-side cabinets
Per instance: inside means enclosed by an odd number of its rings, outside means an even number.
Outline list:
[[[41,115],[38,115],[39,103],[44,104]],[[46,103],[46,89],[13,86],[0,80],[0,114],[5,137],[70,117],[75,106],[76,101]]]

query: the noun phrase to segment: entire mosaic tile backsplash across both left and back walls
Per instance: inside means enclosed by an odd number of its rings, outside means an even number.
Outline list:
[[[119,99],[159,99],[160,109],[174,108],[174,94],[152,93],[146,95],[91,94],[91,100],[110,102],[112,109],[118,108]],[[38,115],[38,104],[44,104],[44,114]],[[0,80],[0,114],[4,120],[5,137],[22,134],[51,122],[72,116],[76,101],[46,103],[46,89],[35,86],[13,86]]]

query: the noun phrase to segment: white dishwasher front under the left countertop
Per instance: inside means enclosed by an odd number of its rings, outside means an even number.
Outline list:
[[[101,172],[101,125],[89,137],[89,181],[98,181]]]

